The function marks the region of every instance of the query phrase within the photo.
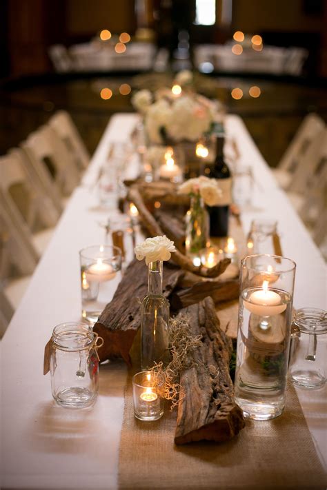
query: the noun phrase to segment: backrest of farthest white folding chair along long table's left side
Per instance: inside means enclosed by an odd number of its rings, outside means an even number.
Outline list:
[[[56,112],[50,119],[49,125],[65,143],[79,170],[84,170],[90,163],[90,154],[68,112],[63,110]]]

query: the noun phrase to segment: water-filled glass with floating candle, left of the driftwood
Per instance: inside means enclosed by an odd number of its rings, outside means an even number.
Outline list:
[[[93,245],[79,252],[82,317],[94,324],[121,281],[121,250]]]

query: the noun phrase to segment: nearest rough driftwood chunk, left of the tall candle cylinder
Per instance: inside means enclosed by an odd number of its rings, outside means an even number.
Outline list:
[[[244,427],[229,375],[231,340],[219,328],[211,298],[182,311],[190,316],[192,335],[201,334],[202,345],[192,352],[194,365],[181,373],[184,398],[178,407],[175,443],[229,440]]]

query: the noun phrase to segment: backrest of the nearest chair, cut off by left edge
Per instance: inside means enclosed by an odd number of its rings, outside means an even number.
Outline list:
[[[28,226],[0,189],[0,279],[32,274],[39,261]]]

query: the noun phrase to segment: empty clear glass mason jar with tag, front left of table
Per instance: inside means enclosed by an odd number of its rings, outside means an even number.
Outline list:
[[[97,398],[99,338],[86,323],[54,327],[50,346],[52,396],[61,407],[85,408]],[[99,345],[97,345],[99,344]]]

